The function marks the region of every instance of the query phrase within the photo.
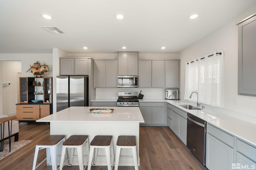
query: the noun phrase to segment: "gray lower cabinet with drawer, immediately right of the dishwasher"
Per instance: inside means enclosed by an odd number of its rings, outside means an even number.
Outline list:
[[[206,168],[231,170],[234,163],[234,136],[207,124]]]

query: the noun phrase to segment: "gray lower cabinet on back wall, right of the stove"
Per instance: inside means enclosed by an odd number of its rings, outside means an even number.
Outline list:
[[[140,125],[163,126],[166,125],[165,102],[140,103],[144,123]]]

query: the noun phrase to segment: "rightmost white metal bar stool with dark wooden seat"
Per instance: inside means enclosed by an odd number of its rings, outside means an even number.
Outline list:
[[[138,170],[138,159],[137,159],[137,150],[136,150],[136,137],[135,136],[119,136],[116,141],[116,161],[115,161],[115,170],[118,170],[118,163],[120,152],[122,148],[132,149],[134,168]]]

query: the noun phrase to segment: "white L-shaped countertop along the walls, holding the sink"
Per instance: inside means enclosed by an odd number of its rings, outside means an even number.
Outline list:
[[[109,101],[109,99],[105,100]],[[219,109],[218,111],[213,111],[211,108],[202,110],[188,110],[184,107],[178,106],[179,104],[190,104],[187,100],[139,99],[139,102],[167,102],[183,111],[186,111],[187,113],[191,113],[192,115],[207,121],[207,123],[227,131],[228,133],[231,133],[232,135],[235,135],[253,145],[256,145],[256,135],[254,134],[256,131],[256,123],[250,123],[248,121],[243,121],[236,117],[227,115],[225,112],[230,112],[228,110]]]

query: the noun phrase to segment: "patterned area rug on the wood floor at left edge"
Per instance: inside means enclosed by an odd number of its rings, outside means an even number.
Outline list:
[[[30,143],[31,141],[17,141],[11,142],[11,152],[9,152],[9,141],[6,140],[4,141],[4,150],[2,152],[0,152],[0,160],[2,158],[4,158],[5,156],[8,156],[9,154],[15,152],[16,150],[20,149],[21,147],[24,147],[25,145],[27,145],[28,143]]]

